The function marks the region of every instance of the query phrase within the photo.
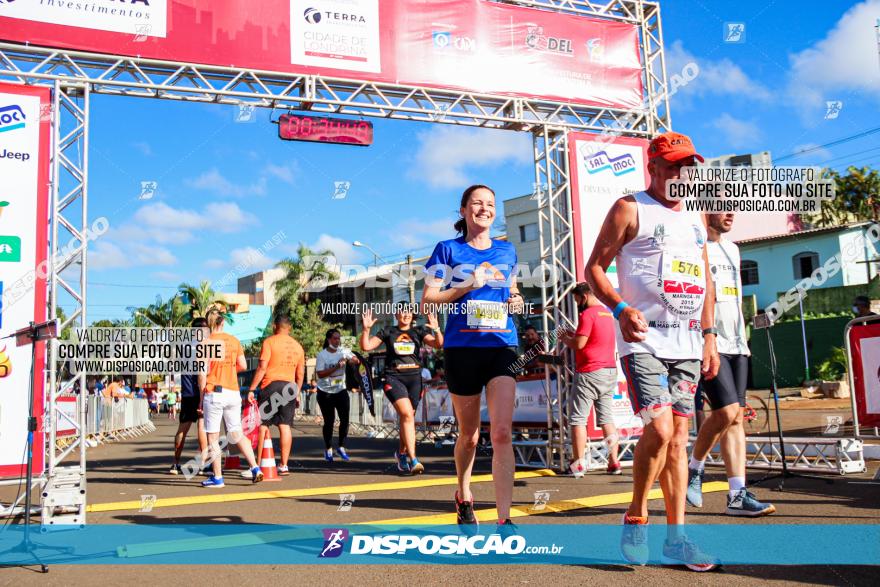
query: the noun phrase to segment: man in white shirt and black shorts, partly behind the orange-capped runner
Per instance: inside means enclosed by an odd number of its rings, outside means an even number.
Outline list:
[[[721,366],[718,377],[704,380],[712,412],[700,426],[688,464],[688,503],[703,507],[703,474],[709,451],[721,440],[721,458],[727,472],[727,515],[764,516],[776,508],[761,503],[746,489],[746,431],[743,408],[749,376],[749,345],[742,315],[739,247],[724,238],[733,228],[733,214],[706,214],[709,264],[715,283],[715,325]]]

